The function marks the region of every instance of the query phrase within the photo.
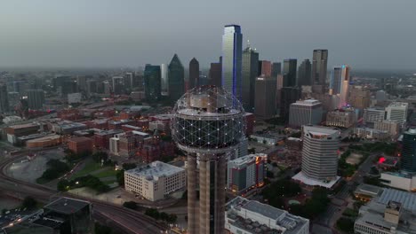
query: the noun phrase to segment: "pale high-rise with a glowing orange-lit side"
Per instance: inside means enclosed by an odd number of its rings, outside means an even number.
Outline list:
[[[349,66],[336,66],[333,68],[330,82],[330,94],[340,97],[339,108],[348,104],[349,94]]]

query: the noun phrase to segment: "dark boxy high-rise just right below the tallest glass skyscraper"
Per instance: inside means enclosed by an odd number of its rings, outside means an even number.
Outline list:
[[[276,115],[276,84],[276,78],[256,78],[254,114],[262,118],[271,118]]]

